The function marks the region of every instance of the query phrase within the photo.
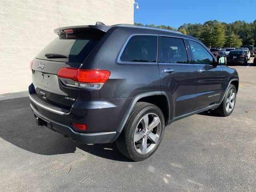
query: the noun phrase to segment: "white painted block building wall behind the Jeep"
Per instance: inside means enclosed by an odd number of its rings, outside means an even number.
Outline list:
[[[28,90],[30,61],[63,26],[133,24],[132,0],[0,0],[0,94]]]

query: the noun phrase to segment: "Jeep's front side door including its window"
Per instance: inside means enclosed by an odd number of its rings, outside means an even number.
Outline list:
[[[224,73],[221,66],[214,66],[215,59],[202,44],[187,40],[194,66],[198,71],[196,105],[194,110],[207,107],[220,100],[224,92]]]

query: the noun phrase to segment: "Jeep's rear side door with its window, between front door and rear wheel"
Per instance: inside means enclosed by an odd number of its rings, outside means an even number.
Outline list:
[[[191,112],[196,103],[198,72],[189,64],[183,38],[159,36],[158,66],[162,91],[167,93],[173,106],[170,118]]]

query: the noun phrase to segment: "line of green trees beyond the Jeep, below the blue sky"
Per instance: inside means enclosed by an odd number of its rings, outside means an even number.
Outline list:
[[[140,23],[134,24],[143,26]],[[175,28],[165,25],[146,24],[145,26],[176,31]],[[252,23],[235,21],[228,24],[217,20],[206,21],[204,24],[188,23],[180,26],[178,31],[200,39],[208,47],[240,47],[241,45],[254,45],[256,43],[256,20]]]

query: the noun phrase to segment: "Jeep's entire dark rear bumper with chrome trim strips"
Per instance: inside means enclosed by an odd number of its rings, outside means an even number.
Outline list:
[[[70,137],[78,143],[111,143],[118,138],[117,128],[126,112],[131,98],[83,100],[77,98],[67,110],[38,99],[34,85],[29,86],[31,108],[41,125]],[[77,130],[72,122],[86,124],[86,130]],[[40,124],[38,124],[40,125]]]

